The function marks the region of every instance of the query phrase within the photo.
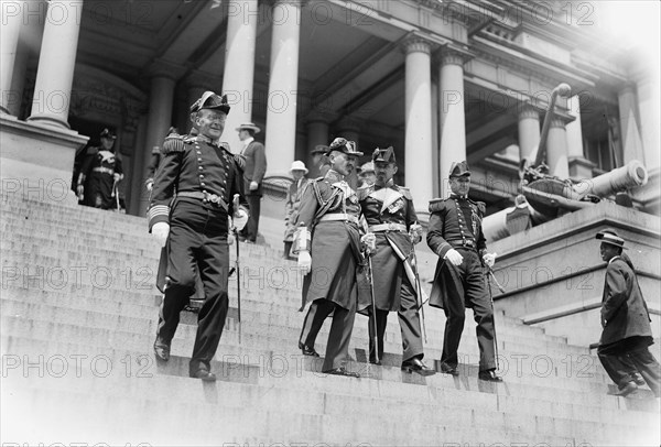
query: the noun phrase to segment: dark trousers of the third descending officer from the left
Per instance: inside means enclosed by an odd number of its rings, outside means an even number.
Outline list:
[[[415,288],[411,285],[407,275],[402,276],[402,286],[400,290],[400,309],[399,317],[400,330],[402,334],[402,361],[420,358],[424,356],[422,350],[422,335],[420,330],[420,314],[418,313],[418,303],[415,298]],[[375,356],[375,319],[373,313],[369,314],[369,359],[376,360]],[[388,324],[388,310],[377,309],[377,340],[379,344],[379,359],[383,358],[383,336]]]

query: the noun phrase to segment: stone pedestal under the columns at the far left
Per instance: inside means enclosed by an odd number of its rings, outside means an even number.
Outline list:
[[[50,201],[75,200],[71,190],[74,159],[88,140],[76,131],[0,115],[3,193]]]

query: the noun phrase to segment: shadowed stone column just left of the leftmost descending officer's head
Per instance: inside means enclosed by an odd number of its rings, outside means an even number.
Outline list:
[[[147,177],[147,167],[151,161],[151,149],[163,144],[165,134],[172,123],[172,105],[174,101],[174,86],[176,84],[172,72],[165,69],[164,64],[158,64],[151,77],[149,94],[149,117],[147,121],[145,144],[142,152],[142,165],[134,172],[142,177],[141,185]],[[137,157],[138,159],[138,157]],[[140,209],[147,209],[147,197],[141,196]]]

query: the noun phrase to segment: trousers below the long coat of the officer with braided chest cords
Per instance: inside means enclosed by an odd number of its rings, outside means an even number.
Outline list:
[[[328,299],[315,299],[310,305],[310,309],[303,321],[303,329],[301,330],[301,344],[314,347],[316,336],[322,329],[324,320],[332,312],[333,323],[330,324],[328,345],[326,346],[326,356],[322,371],[344,366],[344,361],[349,353],[349,341],[354,329],[354,320],[356,319],[356,309],[345,309]]]

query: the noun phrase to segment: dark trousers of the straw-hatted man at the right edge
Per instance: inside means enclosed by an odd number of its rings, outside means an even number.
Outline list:
[[[650,352],[646,337],[629,337],[614,344],[599,346],[597,355],[608,377],[621,389],[640,372],[657,397],[660,393],[661,366]]]

